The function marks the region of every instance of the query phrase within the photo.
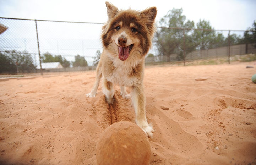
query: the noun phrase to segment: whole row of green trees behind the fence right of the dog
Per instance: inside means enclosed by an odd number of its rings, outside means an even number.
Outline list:
[[[214,31],[209,21],[200,19],[195,26],[193,21],[186,20],[182,9],[172,9],[160,19],[159,26],[162,28],[155,36],[158,55],[165,55],[169,60],[171,55],[177,55],[177,60],[182,60],[191,51],[228,46],[229,43],[255,43],[256,46],[256,21],[244,37],[235,33],[224,37],[222,32]]]

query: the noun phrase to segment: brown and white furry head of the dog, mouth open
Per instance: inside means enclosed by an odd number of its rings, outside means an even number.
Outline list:
[[[156,27],[154,20],[157,15],[156,7],[143,11],[118,10],[106,2],[108,21],[102,28],[103,46],[110,49],[114,55],[124,61],[129,56],[144,57],[152,45]]]

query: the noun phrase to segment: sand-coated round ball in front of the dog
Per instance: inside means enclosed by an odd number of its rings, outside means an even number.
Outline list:
[[[146,133],[128,121],[108,126],[96,145],[98,165],[148,165],[150,153]]]

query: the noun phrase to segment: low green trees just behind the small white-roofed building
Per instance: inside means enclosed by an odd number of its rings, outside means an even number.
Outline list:
[[[70,66],[70,62],[66,58],[63,58],[61,55],[53,56],[49,52],[43,54],[42,61],[43,62],[60,62],[60,64],[64,68],[67,68]]]

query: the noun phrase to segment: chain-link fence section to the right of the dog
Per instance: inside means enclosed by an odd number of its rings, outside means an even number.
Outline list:
[[[244,33],[211,29],[158,27],[154,38],[154,52],[147,65],[210,65],[233,61],[256,60],[256,40],[244,38]]]

